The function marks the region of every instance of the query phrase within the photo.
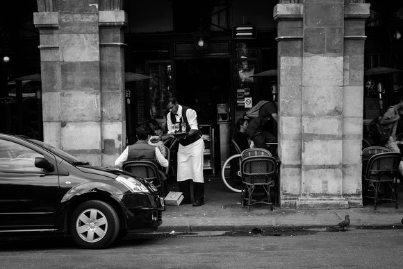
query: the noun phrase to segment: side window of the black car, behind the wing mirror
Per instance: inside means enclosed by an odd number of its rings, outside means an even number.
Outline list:
[[[42,169],[35,167],[35,157],[43,157],[43,155],[26,146],[0,139],[1,171],[40,172]]]

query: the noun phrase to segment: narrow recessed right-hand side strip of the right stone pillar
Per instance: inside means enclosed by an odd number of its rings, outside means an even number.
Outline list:
[[[365,19],[370,4],[345,1],[343,77],[343,197],[362,207],[363,85]],[[348,2],[348,3],[347,3]]]

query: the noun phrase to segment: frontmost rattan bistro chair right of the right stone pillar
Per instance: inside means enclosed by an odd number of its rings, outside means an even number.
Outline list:
[[[363,175],[363,197],[374,199],[374,210],[377,209],[377,202],[381,200],[395,202],[395,207],[398,207],[396,175],[401,160],[400,153],[379,153],[370,157]],[[373,191],[369,191],[368,186],[373,188]]]

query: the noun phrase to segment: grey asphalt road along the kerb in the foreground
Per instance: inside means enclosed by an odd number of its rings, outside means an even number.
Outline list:
[[[106,250],[0,240],[0,268],[402,268],[402,249],[403,229],[129,235]]]

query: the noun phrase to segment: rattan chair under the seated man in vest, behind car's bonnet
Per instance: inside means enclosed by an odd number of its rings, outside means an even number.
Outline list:
[[[140,177],[143,180],[154,184],[158,189],[158,193],[165,197],[164,181],[161,180],[158,167],[154,162],[149,161],[128,161],[122,165],[124,171],[133,174],[135,177]]]

